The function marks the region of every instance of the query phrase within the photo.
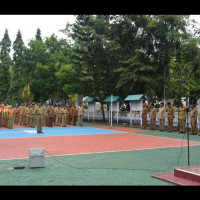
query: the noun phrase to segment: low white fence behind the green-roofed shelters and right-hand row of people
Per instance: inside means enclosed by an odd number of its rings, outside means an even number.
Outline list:
[[[147,114],[147,125],[150,125],[150,117]],[[168,127],[167,122],[167,112],[165,117],[165,127]],[[103,121],[103,116],[101,111],[91,112],[85,109],[84,120],[87,121]],[[105,111],[105,120],[106,122],[111,121],[111,111]],[[129,111],[113,111],[112,112],[112,122],[113,123],[128,123],[131,125],[142,125],[141,114],[139,112],[129,112]],[[174,128],[178,128],[178,112],[175,112],[175,117],[173,120]],[[156,118],[156,126],[159,126],[159,120]],[[190,112],[188,113],[188,123],[186,120],[186,127],[190,128]],[[197,129],[200,130],[200,121],[197,119]]]

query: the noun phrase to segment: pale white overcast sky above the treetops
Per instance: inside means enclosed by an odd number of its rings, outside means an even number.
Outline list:
[[[191,18],[200,23],[200,15],[191,15]],[[53,33],[58,38],[66,38],[59,30],[64,29],[67,22],[75,22],[75,15],[0,15],[0,41],[6,28],[12,44],[18,30],[21,31],[25,45],[35,38],[37,28],[40,28],[43,39]]]

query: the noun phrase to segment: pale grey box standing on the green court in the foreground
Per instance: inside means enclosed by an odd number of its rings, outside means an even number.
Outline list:
[[[29,167],[45,167],[45,149],[44,148],[30,148],[29,149]]]

